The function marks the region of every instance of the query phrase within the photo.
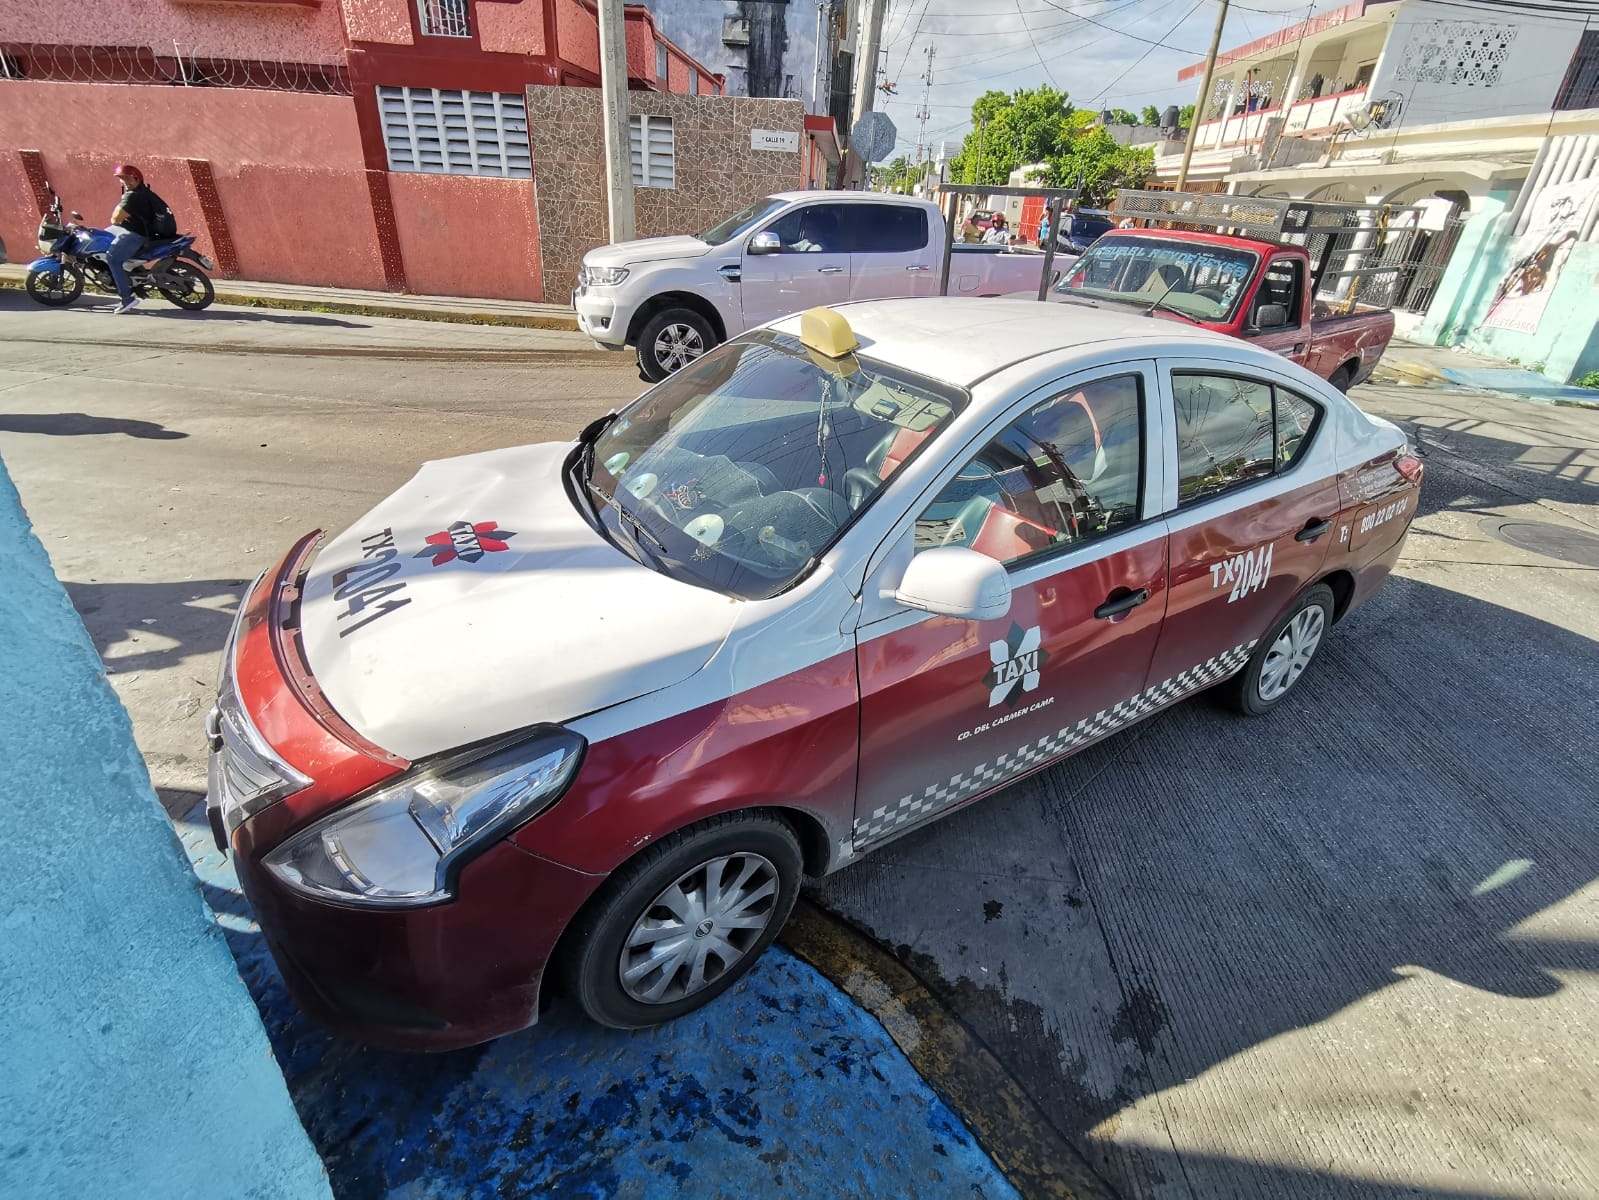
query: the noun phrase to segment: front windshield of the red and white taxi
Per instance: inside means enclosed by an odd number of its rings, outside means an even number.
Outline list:
[[[676,579],[776,595],[833,544],[964,394],[793,338],[724,346],[628,405],[588,491],[619,544]]]

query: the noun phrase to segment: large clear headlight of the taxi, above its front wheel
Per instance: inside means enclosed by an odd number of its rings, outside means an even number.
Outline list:
[[[301,830],[264,859],[296,891],[337,904],[449,899],[462,864],[566,792],[584,739],[548,726],[381,787]]]

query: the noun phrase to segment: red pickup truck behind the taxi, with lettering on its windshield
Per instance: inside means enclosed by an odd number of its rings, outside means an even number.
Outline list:
[[[1362,382],[1393,338],[1386,309],[1318,301],[1303,246],[1186,229],[1118,229],[1051,290],[1062,304],[1142,307],[1281,354],[1340,392]]]

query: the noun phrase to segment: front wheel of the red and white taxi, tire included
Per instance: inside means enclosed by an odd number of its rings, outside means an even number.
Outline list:
[[[800,893],[800,842],[768,813],[680,830],[622,867],[572,926],[566,982],[601,1026],[644,1029],[748,971]]]

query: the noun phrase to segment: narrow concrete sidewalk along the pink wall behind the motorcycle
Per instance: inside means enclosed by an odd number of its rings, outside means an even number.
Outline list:
[[[21,288],[27,267],[0,266],[0,286]],[[577,315],[566,304],[532,301],[475,299],[470,296],[411,296],[361,288],[312,288],[301,283],[259,283],[213,278],[222,304],[257,309],[305,309],[345,312],[361,317],[409,317],[411,320],[456,322],[462,325],[515,325],[528,330],[577,330]],[[88,298],[90,293],[85,293]],[[78,304],[85,301],[80,299]]]

